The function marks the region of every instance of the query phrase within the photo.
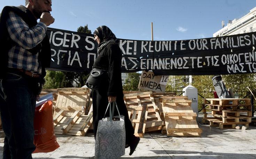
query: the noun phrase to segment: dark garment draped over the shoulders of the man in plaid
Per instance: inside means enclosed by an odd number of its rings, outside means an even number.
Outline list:
[[[14,7],[14,6],[6,6],[3,8],[1,15],[0,15],[0,48],[1,48],[1,55],[0,58],[0,78],[2,78],[3,74],[7,70],[7,63],[8,63],[8,51],[9,49],[15,45],[15,43],[10,39],[7,28],[6,28],[6,21],[9,12],[13,11],[15,14],[20,16],[26,24],[28,24],[29,28],[34,27],[37,25],[37,20],[34,18],[31,11],[24,7]],[[28,50],[29,52],[36,54],[39,50],[39,62],[41,63],[42,67],[42,77],[45,76],[45,68],[49,68],[51,64],[51,46],[49,43],[49,38],[46,35],[44,40],[38,44],[36,47]]]

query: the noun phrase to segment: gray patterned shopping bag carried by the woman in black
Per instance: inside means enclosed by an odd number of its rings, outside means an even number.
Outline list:
[[[114,112],[116,102],[113,103],[112,112]],[[108,107],[110,107],[109,109],[111,110],[110,103]],[[95,139],[95,159],[116,159],[125,154],[124,116],[120,115],[118,108],[117,111],[119,116],[112,117],[113,113],[109,111],[109,117],[99,121]],[[113,121],[113,118],[119,118],[119,120]]]

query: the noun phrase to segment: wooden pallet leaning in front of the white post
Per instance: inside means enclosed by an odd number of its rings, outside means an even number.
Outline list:
[[[159,100],[162,103],[167,136],[201,136],[202,130],[197,125],[191,99],[163,96]]]

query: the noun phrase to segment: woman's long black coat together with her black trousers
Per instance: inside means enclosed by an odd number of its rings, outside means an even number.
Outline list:
[[[116,96],[116,103],[121,115],[125,119],[126,144],[129,144],[134,134],[134,129],[129,120],[127,108],[123,99],[123,87],[121,79],[121,50],[116,42],[109,42],[99,52],[94,62],[94,68],[107,70],[108,79],[102,79],[103,87],[98,90],[92,90],[93,100],[93,128],[94,137],[98,128],[98,122],[104,117],[108,106],[108,96]],[[106,115],[109,114],[109,111]],[[116,109],[114,115],[118,115]]]

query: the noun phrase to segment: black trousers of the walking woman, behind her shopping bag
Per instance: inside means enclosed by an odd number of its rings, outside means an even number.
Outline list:
[[[129,144],[132,141],[134,129],[129,119],[128,111],[124,104],[123,97],[117,97],[116,103],[117,103],[120,114],[124,115],[126,144]],[[101,120],[104,117],[104,114],[108,106],[107,90],[105,91],[92,90],[92,104],[93,104],[93,131],[94,131],[94,138],[96,138],[99,120]],[[118,115],[118,112],[117,112],[117,109],[115,108],[114,116],[117,116],[117,115]],[[106,113],[106,117],[108,116],[109,116],[109,109]]]

